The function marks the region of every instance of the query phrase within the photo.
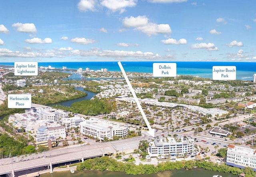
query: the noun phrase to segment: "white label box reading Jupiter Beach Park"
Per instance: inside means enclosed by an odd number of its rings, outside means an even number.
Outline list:
[[[213,66],[213,80],[236,80],[236,66]]]

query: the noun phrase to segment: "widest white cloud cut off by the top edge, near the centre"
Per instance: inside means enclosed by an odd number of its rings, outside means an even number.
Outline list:
[[[125,8],[136,6],[137,0],[102,0],[100,4],[112,12],[120,11],[122,14]]]

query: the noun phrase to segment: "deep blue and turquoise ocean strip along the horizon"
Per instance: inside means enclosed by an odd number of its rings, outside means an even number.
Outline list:
[[[126,72],[152,73],[153,63],[176,63],[177,75],[192,75],[196,77],[212,78],[213,66],[236,66],[236,79],[252,81],[253,75],[256,73],[256,62],[196,62],[196,61],[136,61],[136,62],[121,62]],[[0,65],[14,66],[14,63],[0,63]],[[120,71],[117,62],[42,62],[38,63],[38,67],[54,67],[62,69],[63,66],[67,69],[77,70],[82,68],[90,68],[90,70],[108,69],[108,71]]]

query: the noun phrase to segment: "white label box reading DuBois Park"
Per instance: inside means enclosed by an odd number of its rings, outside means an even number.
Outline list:
[[[153,77],[176,77],[176,63],[153,63]]]

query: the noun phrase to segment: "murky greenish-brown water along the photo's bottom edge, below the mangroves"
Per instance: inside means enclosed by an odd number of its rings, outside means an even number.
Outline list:
[[[231,173],[223,173],[218,171],[209,171],[201,168],[193,168],[191,170],[172,170],[164,171],[161,173],[151,175],[127,175],[121,172],[109,172],[109,171],[75,171],[71,173],[66,172],[54,172],[52,174],[42,174],[41,177],[212,177],[214,175],[220,175],[222,177],[238,177],[238,175],[232,175]]]

